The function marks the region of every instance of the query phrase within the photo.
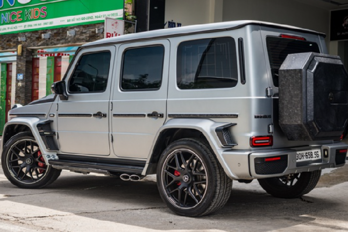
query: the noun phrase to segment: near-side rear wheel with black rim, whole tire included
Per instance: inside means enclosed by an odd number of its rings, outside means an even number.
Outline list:
[[[162,153],[157,186],[168,208],[181,216],[203,216],[222,208],[232,180],[206,142],[180,139]]]

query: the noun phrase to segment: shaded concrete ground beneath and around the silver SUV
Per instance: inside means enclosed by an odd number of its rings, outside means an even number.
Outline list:
[[[345,170],[337,175],[345,176]],[[334,172],[329,173],[322,183],[330,182],[331,186],[334,175]],[[161,200],[156,182],[152,181],[130,182],[65,171],[52,185],[39,190],[18,189],[8,181],[0,181],[0,194],[5,195],[0,199],[0,205],[6,200],[158,230],[244,232],[253,228],[254,232],[263,232],[308,224],[315,217],[347,221],[348,213],[346,209],[339,216],[332,214],[340,205],[335,199],[312,197],[310,194],[299,199],[273,198],[255,180],[251,184],[234,182],[226,206],[213,215],[199,218],[173,214]],[[272,223],[274,221],[277,223]]]

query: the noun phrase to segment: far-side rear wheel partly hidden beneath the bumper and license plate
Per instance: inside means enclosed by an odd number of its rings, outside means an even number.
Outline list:
[[[309,193],[317,185],[321,170],[290,174],[281,177],[258,179],[261,187],[278,198],[298,198]]]

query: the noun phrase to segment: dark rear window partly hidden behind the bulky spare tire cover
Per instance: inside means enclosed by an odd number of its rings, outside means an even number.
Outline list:
[[[315,42],[269,36],[266,38],[266,43],[273,84],[276,87],[279,86],[278,70],[288,54],[320,52],[319,47]]]

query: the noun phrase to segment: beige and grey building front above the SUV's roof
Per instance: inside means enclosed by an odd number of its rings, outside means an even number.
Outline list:
[[[288,24],[325,33],[329,53],[340,55],[348,68],[347,39],[330,38],[331,13],[348,8],[348,0],[175,0],[165,3],[166,27],[234,20]],[[184,6],[190,7],[184,7]],[[348,16],[348,12],[345,16]],[[342,27],[345,17],[338,19]],[[348,21],[347,21],[348,22]],[[345,29],[348,37],[348,27]],[[345,52],[346,50],[346,52]]]

